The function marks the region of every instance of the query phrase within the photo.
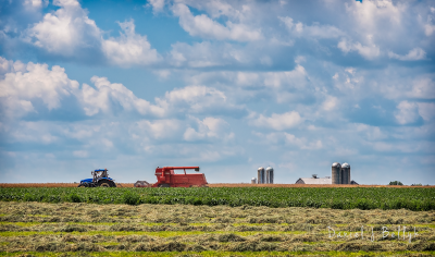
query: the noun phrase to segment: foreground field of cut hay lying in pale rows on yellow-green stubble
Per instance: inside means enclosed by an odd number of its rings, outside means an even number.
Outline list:
[[[0,252],[1,256],[433,256],[435,211],[0,201]]]

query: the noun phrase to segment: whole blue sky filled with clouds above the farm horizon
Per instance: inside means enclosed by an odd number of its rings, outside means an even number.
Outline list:
[[[0,182],[435,184],[434,1],[0,0]]]

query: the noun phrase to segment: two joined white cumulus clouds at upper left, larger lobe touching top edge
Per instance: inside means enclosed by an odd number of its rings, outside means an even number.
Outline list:
[[[58,0],[53,4],[60,9],[32,25],[24,34],[26,41],[52,54],[69,58],[89,58],[83,51],[100,54],[121,66],[146,65],[161,59],[147,37],[135,33],[133,20],[119,22],[122,28],[120,37],[104,39],[103,32],[76,0]]]

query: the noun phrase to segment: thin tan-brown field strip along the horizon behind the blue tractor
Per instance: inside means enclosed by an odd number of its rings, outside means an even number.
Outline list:
[[[77,187],[78,183],[0,183],[0,187]],[[119,183],[119,187],[134,187],[134,183]],[[248,183],[212,183],[209,187],[393,187],[393,188],[433,188],[435,185],[309,185],[309,184],[248,184]]]

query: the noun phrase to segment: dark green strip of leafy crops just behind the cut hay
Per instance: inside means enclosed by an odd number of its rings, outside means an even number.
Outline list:
[[[3,201],[434,210],[435,188],[0,188]]]

